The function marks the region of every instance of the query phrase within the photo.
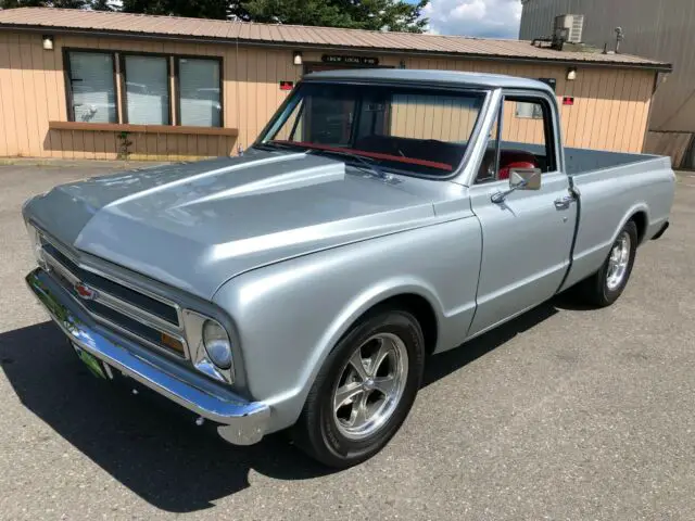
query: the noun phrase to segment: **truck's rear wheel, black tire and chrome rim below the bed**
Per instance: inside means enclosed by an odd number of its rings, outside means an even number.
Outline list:
[[[585,302],[606,307],[618,300],[632,274],[637,240],[637,227],[631,220],[618,233],[601,269],[580,283]]]

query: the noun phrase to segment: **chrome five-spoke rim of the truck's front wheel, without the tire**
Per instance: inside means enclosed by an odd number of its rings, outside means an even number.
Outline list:
[[[404,342],[378,333],[357,347],[333,391],[333,419],[342,435],[362,440],[381,428],[396,409],[408,372]]]

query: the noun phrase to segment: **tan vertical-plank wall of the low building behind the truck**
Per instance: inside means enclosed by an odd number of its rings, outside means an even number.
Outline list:
[[[180,160],[233,154],[245,149],[288,96],[280,81],[298,81],[302,67],[292,63],[292,49],[266,49],[215,43],[178,43],[116,38],[61,36],[45,51],[39,34],[0,31],[0,156],[114,158],[116,132],[49,129],[49,120],[66,122],[63,48],[199,54],[223,58],[224,122],[238,136],[142,135],[128,139],[131,158]],[[353,52],[346,52],[354,54]],[[305,63],[319,62],[320,52],[304,52]],[[380,63],[407,68],[498,73],[555,78],[561,106],[563,132],[570,147],[640,152],[643,148],[655,73],[648,71],[579,68],[567,81],[565,65],[437,60],[382,55]],[[119,81],[116,81],[119,85]],[[513,135],[531,131],[533,120],[506,115]],[[463,115],[462,115],[463,117]],[[453,135],[453,129],[447,130]],[[455,132],[454,132],[455,134]],[[444,136],[443,136],[444,137]]]

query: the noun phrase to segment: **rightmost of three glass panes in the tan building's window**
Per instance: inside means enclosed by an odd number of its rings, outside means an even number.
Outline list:
[[[195,127],[222,126],[219,62],[178,60],[179,124]]]

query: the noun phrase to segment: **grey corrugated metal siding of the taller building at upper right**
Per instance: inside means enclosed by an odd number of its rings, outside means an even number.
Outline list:
[[[617,26],[626,39],[620,50],[670,62],[673,74],[654,99],[650,129],[695,131],[695,1],[694,0],[527,0],[520,38],[551,33],[557,14],[584,15],[583,40],[615,49]]]

